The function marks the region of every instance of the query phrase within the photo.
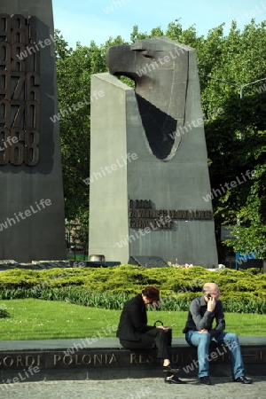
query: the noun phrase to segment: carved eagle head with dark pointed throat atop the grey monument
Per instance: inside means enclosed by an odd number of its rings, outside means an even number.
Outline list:
[[[136,83],[145,135],[159,160],[170,160],[181,142],[175,131],[184,126],[188,53],[166,37],[113,46],[107,52],[110,73]]]

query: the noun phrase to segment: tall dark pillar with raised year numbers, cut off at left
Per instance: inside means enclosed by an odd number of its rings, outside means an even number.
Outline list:
[[[0,260],[66,259],[51,0],[0,4]]]

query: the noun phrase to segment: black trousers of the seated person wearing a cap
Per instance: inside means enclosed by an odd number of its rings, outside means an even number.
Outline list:
[[[141,334],[140,340],[120,340],[121,346],[127,349],[158,349],[159,359],[171,360],[168,347],[168,334],[161,328],[154,328]]]

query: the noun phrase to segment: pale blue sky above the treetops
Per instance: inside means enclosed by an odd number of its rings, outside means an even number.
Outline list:
[[[226,35],[233,19],[240,29],[252,18],[266,20],[266,0],[52,0],[52,5],[54,27],[74,48],[76,42],[99,45],[117,35],[129,42],[134,25],[149,34],[180,19],[183,29],[194,25],[206,36],[223,22]]]

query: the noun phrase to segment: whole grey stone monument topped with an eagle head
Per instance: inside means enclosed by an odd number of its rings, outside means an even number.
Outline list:
[[[195,51],[166,37],[109,49],[91,92],[89,254],[217,265]],[[135,90],[116,76],[135,82]]]

